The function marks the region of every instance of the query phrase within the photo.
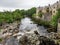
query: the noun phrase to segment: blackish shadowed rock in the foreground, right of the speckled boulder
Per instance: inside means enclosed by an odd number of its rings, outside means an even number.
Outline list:
[[[55,42],[47,37],[40,36],[40,45],[56,45]]]

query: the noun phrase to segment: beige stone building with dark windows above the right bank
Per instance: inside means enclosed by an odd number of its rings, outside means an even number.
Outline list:
[[[53,5],[48,5],[44,7],[38,7],[36,9],[36,17],[39,17],[39,13],[43,13],[43,16],[41,17],[43,20],[50,21],[51,18],[56,15],[57,9],[60,8],[60,0],[54,3]]]

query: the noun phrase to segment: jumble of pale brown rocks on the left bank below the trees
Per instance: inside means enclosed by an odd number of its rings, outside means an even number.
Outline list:
[[[19,23],[14,22],[11,24],[5,24],[2,26],[2,37],[6,37],[8,35],[13,35],[19,32]]]

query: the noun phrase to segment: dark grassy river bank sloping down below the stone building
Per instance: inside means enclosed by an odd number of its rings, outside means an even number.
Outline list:
[[[37,19],[32,17],[32,21],[38,25],[42,25],[45,28],[47,28],[47,31],[50,32],[57,32],[57,26],[52,26],[51,23],[49,21],[44,21],[41,19]]]

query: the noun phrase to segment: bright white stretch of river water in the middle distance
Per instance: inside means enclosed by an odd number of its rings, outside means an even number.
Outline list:
[[[33,28],[36,28],[37,25],[33,24],[33,22],[31,21],[30,18],[26,17],[24,19],[21,20],[21,24],[20,24],[20,30],[31,30]]]

